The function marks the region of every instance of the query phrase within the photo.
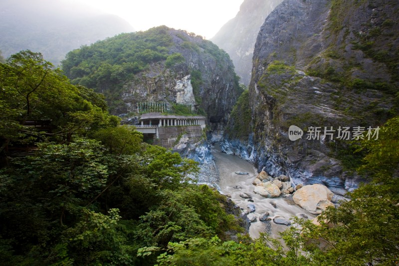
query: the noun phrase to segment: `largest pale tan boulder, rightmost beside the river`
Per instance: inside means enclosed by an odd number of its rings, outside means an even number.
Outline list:
[[[307,185],[298,189],[292,199],[296,204],[306,211],[319,215],[328,206],[333,206],[331,202],[334,194],[324,185]]]

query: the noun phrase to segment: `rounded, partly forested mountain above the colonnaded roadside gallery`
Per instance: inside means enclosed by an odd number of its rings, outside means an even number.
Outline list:
[[[106,95],[114,114],[140,102],[189,104],[222,129],[242,89],[223,50],[200,36],[159,26],[73,50],[62,62],[73,83]]]

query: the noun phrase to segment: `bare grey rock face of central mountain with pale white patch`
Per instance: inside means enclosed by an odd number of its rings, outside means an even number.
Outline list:
[[[228,54],[201,36],[170,28],[167,33],[173,41],[169,53],[184,60],[170,66],[153,63],[136,74],[122,93],[127,111],[145,101],[193,104],[205,111],[212,130],[222,129],[242,92]]]

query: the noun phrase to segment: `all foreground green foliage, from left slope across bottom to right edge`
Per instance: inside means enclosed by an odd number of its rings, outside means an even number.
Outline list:
[[[370,182],[321,225],[294,219],[281,241],[232,241],[242,231],[226,213],[233,203],[195,185],[196,162],[118,126],[101,95],[40,54],[17,53],[0,71],[2,265],[399,263],[398,117],[358,147]],[[39,120],[46,127],[25,126]]]

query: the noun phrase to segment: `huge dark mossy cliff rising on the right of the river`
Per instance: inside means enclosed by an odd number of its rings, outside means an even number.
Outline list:
[[[270,13],[247,103],[254,147],[247,154],[258,170],[340,193],[356,187],[349,171],[356,156],[338,128],[367,131],[398,113],[398,11],[398,1],[284,0]],[[290,125],[304,130],[302,139],[289,140]],[[321,127],[319,138],[306,139],[311,127]],[[336,130],[333,139],[324,127]],[[226,142],[233,152],[249,143]]]

